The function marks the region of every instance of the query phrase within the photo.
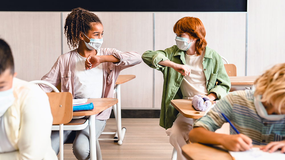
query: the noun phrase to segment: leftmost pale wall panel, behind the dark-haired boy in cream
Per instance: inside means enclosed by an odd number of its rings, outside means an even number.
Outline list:
[[[0,12],[0,38],[9,43],[17,78],[40,80],[61,53],[60,12]]]

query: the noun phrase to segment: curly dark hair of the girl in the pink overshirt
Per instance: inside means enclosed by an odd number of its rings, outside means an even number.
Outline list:
[[[80,32],[88,34],[91,30],[91,23],[101,23],[100,18],[90,11],[83,8],[72,9],[71,13],[68,14],[64,24],[64,34],[67,38],[67,44],[70,48],[76,48],[79,43]]]

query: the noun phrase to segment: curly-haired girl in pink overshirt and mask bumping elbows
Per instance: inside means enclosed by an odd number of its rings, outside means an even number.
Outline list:
[[[70,92],[74,99],[113,98],[115,82],[120,71],[142,62],[135,51],[122,52],[114,48],[101,48],[103,25],[100,18],[85,9],[76,8],[66,17],[64,34],[73,51],[58,57],[50,72],[42,80],[57,86],[61,82],[61,92]],[[49,87],[40,85],[45,92]],[[112,108],[96,115],[96,140],[103,132]],[[64,141],[72,131],[64,132]],[[52,132],[52,147],[59,152],[58,132]],[[90,158],[89,126],[76,131],[73,153],[79,160]]]

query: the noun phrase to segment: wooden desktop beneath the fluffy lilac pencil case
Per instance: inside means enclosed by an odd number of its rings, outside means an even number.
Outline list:
[[[211,101],[213,103],[213,101]],[[192,106],[191,99],[173,99],[170,101],[171,105],[176,108],[184,117],[199,119],[203,117],[203,111],[197,111]]]

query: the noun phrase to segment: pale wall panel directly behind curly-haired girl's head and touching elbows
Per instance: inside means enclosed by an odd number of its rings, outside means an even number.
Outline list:
[[[136,51],[140,55],[152,47],[152,13],[96,12],[103,23],[102,48]],[[65,21],[67,12],[64,12]],[[64,53],[69,48],[64,36]],[[152,108],[152,68],[143,62],[122,70],[120,74],[133,74],[136,78],[121,85],[122,108]]]

